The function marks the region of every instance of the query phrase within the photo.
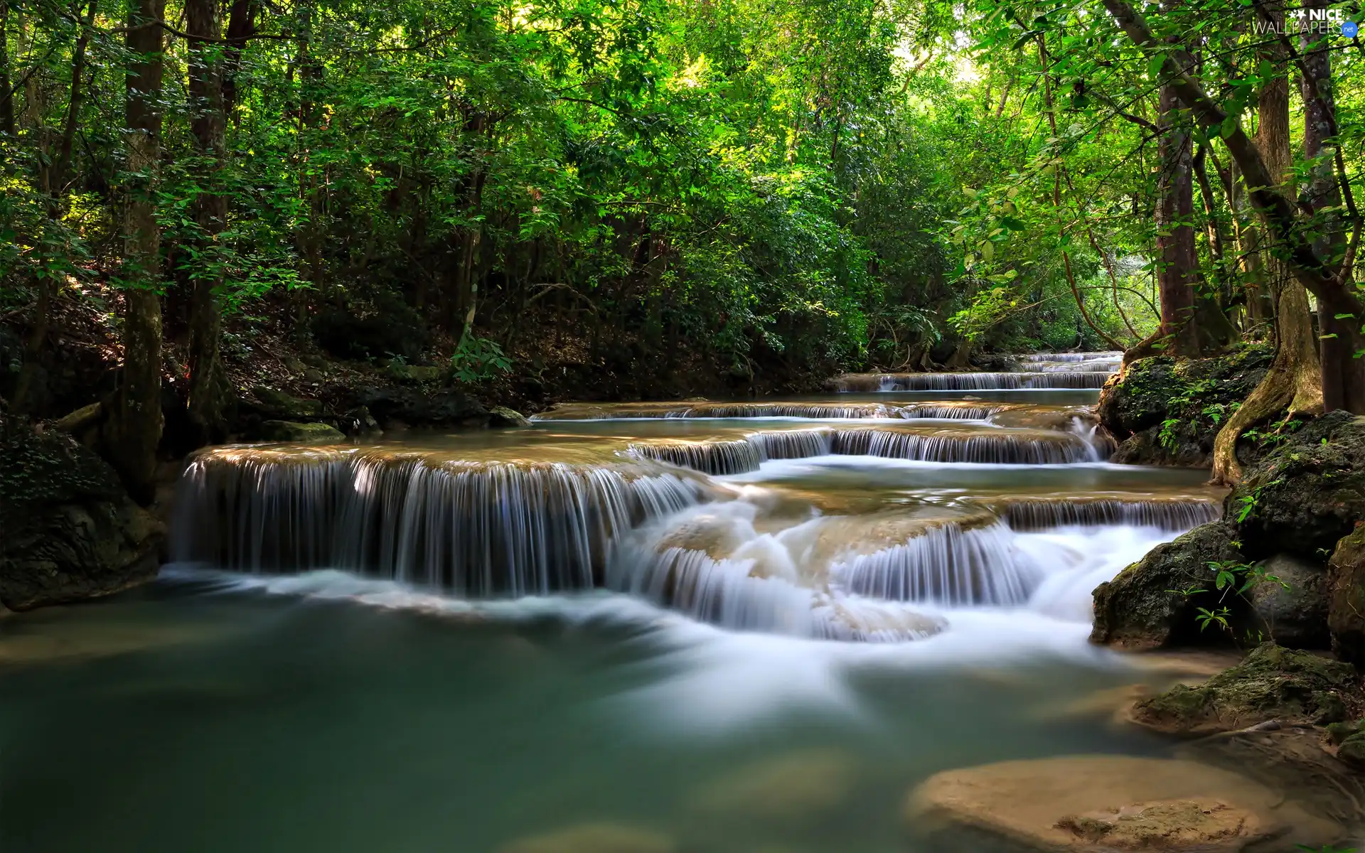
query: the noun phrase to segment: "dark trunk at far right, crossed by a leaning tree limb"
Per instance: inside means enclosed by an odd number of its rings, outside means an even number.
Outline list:
[[[1308,0],[1305,8],[1327,8],[1325,0]],[[1304,67],[1304,157],[1323,156],[1313,167],[1313,175],[1304,191],[1309,209],[1323,220],[1314,242],[1317,254],[1330,265],[1339,266],[1346,255],[1346,229],[1340,217],[1342,194],[1332,168],[1336,142],[1331,139],[1336,126],[1336,101],[1332,96],[1332,60],[1327,52],[1328,38],[1321,33],[1302,33]],[[1323,408],[1346,409],[1365,415],[1365,359],[1355,358],[1350,332],[1335,314],[1317,306],[1319,360],[1323,368]]]

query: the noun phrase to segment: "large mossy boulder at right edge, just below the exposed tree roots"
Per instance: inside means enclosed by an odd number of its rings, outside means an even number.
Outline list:
[[[1248,557],[1325,560],[1365,519],[1365,418],[1330,412],[1287,434],[1224,506]]]

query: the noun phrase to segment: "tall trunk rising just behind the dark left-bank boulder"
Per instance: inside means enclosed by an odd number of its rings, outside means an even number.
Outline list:
[[[161,232],[153,190],[161,146],[165,0],[132,0],[127,48],[127,176],[123,214],[123,373],[109,423],[109,461],[134,500],[154,497],[161,441]]]

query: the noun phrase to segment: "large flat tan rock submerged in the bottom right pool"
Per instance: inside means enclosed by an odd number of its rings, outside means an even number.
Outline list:
[[[940,843],[981,850],[981,835],[1025,850],[1233,853],[1323,826],[1242,775],[1189,760],[1066,756],[950,770],[919,786],[908,818]]]

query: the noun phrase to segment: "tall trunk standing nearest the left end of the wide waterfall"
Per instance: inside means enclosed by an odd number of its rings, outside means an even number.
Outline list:
[[[222,411],[227,382],[222,373],[220,338],[222,310],[217,289],[222,285],[218,235],[228,218],[228,198],[221,192],[224,134],[227,115],[222,100],[221,50],[217,0],[187,0],[186,30],[190,42],[190,130],[199,154],[199,195],[194,218],[199,227],[199,246],[194,252],[190,298],[190,422],[199,431],[201,442],[222,441],[227,434]]]

